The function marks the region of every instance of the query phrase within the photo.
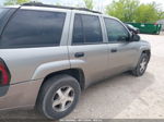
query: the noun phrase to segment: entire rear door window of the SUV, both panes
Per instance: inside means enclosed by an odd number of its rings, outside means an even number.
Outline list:
[[[73,44],[103,42],[98,16],[77,14],[73,27]]]

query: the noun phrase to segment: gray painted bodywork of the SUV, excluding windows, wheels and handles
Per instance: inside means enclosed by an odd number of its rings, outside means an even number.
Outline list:
[[[5,96],[0,97],[0,109],[33,107],[44,78],[54,72],[81,69],[85,77],[85,87],[110,75],[133,69],[143,50],[150,50],[145,41],[107,44],[107,34],[103,17],[106,15],[52,8],[23,7],[37,11],[66,12],[59,47],[0,49],[11,72],[11,85]],[[103,32],[103,44],[72,46],[74,14],[97,15]],[[114,17],[113,17],[114,19]],[[120,22],[121,23],[121,22]],[[110,50],[117,48],[118,52]],[[84,52],[83,58],[74,58],[75,52]]]

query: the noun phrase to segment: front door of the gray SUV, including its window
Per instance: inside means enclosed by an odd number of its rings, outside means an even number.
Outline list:
[[[125,25],[115,19],[104,17],[108,39],[109,74],[124,72],[133,66],[137,57],[134,42],[130,42],[130,33]]]

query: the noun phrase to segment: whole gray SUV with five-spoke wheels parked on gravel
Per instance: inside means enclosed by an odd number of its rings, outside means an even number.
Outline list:
[[[0,8],[0,110],[69,114],[91,84],[141,76],[150,44],[118,19],[82,8],[25,3]]]

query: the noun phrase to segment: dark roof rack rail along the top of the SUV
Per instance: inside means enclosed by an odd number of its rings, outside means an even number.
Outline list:
[[[80,10],[80,11],[87,11],[87,12],[92,12],[92,13],[99,13],[102,14],[102,12],[98,11],[93,11],[86,8],[73,8],[73,7],[65,7],[65,5],[51,5],[51,4],[44,4],[42,2],[27,2],[27,3],[23,3],[21,5],[30,5],[30,7],[46,7],[46,8],[57,8],[57,9],[68,9],[68,10]]]

